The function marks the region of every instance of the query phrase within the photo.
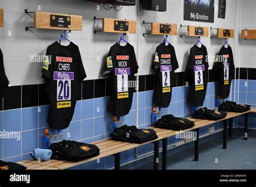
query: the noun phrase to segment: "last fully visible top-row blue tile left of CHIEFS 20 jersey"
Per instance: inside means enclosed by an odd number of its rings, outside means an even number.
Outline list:
[[[22,109],[22,131],[38,128],[37,107]]]

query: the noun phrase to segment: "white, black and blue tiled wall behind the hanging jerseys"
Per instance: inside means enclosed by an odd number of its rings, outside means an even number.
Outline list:
[[[215,5],[218,1],[215,0]],[[83,15],[83,31],[72,31],[69,38],[79,46],[82,54],[83,64],[87,78],[83,81],[82,93],[78,100],[75,114],[69,128],[62,131],[65,139],[82,142],[92,142],[109,137],[111,132],[112,116],[106,110],[111,90],[110,80],[101,77],[105,55],[110,46],[118,40],[117,34],[97,33],[101,23],[94,21],[93,16],[98,18],[120,18],[139,21],[138,34],[130,34],[127,40],[134,46],[139,61],[139,100],[138,100],[138,125],[149,127],[151,123],[152,94],[153,94],[153,71],[150,68],[152,56],[156,47],[163,40],[162,36],[146,35],[149,26],[142,25],[146,22],[159,21],[183,25],[202,25],[192,21],[183,20],[183,1],[167,0],[166,12],[144,11],[141,8],[137,15],[137,6],[123,7],[119,12],[104,10],[100,5],[82,0],[2,0],[0,7],[5,9],[5,26],[0,28],[0,47],[4,54],[5,70],[12,87],[10,87],[0,100],[0,130],[19,131],[22,133],[21,141],[14,139],[0,139],[0,159],[6,161],[19,161],[28,159],[29,152],[33,148],[43,147],[42,135],[45,128],[48,112],[48,99],[45,93],[45,85],[41,78],[42,63],[29,62],[30,55],[45,54],[46,47],[60,36],[60,31],[37,30],[32,28],[25,32],[24,27],[32,25],[32,17],[25,15],[24,9],[29,11],[38,10],[58,13],[73,13]],[[217,18],[215,10],[214,23],[204,23],[209,27],[236,28],[238,6],[236,1],[227,0],[226,19]],[[11,31],[11,35],[10,32]],[[185,30],[179,29],[178,34]],[[238,35],[238,34],[237,34]],[[186,102],[188,88],[185,87],[183,71],[185,70],[188,53],[196,38],[183,37],[179,35],[169,37],[171,44],[176,48],[179,69],[176,71],[177,84],[174,85],[170,107],[162,109],[164,114],[172,113],[175,116],[187,117],[190,106]],[[238,39],[228,40],[233,48],[235,66],[238,66]],[[139,41],[137,43],[137,41]],[[224,40],[202,38],[201,41],[207,47],[208,54],[217,54]],[[98,60],[97,60],[98,59]],[[207,87],[207,96],[204,106],[212,108],[215,106],[215,87],[213,62],[210,62],[210,76]],[[237,75],[239,70],[237,70]],[[237,76],[238,77],[238,76]],[[233,81],[230,100],[238,98],[238,81]],[[132,109],[127,116],[122,117],[122,124],[136,125],[136,93],[133,95]],[[215,124],[215,129],[221,125]],[[201,134],[207,133],[207,128],[200,130]],[[68,137],[70,135],[70,137]],[[180,141],[170,138],[169,143]],[[122,163],[136,159],[137,155],[143,155],[152,150],[152,145],[146,145],[122,153]],[[90,162],[77,168],[82,169],[108,169],[113,167],[113,157],[101,159],[100,163]]]

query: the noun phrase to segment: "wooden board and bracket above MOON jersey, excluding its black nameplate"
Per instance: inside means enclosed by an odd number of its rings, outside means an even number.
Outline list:
[[[137,21],[125,20],[125,19],[111,19],[111,18],[100,18],[100,19],[102,19],[102,32],[132,33],[132,34],[137,33]],[[128,30],[127,31],[114,30],[114,26],[117,23],[117,21],[127,22],[128,23]]]

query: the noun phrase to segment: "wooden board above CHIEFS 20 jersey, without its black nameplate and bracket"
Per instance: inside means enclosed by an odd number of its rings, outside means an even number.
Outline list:
[[[70,28],[53,27],[50,24],[51,15],[68,16],[70,17]],[[34,12],[34,27],[56,30],[75,30],[82,31],[82,16],[68,15],[62,13],[49,13],[49,12]]]

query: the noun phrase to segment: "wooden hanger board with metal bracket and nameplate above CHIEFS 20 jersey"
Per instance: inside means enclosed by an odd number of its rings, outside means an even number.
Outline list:
[[[30,12],[25,9],[25,13],[33,13],[34,26],[25,27],[25,31],[29,28],[44,28],[54,30],[75,30],[82,31],[83,17],[78,15],[50,13],[50,12]]]

